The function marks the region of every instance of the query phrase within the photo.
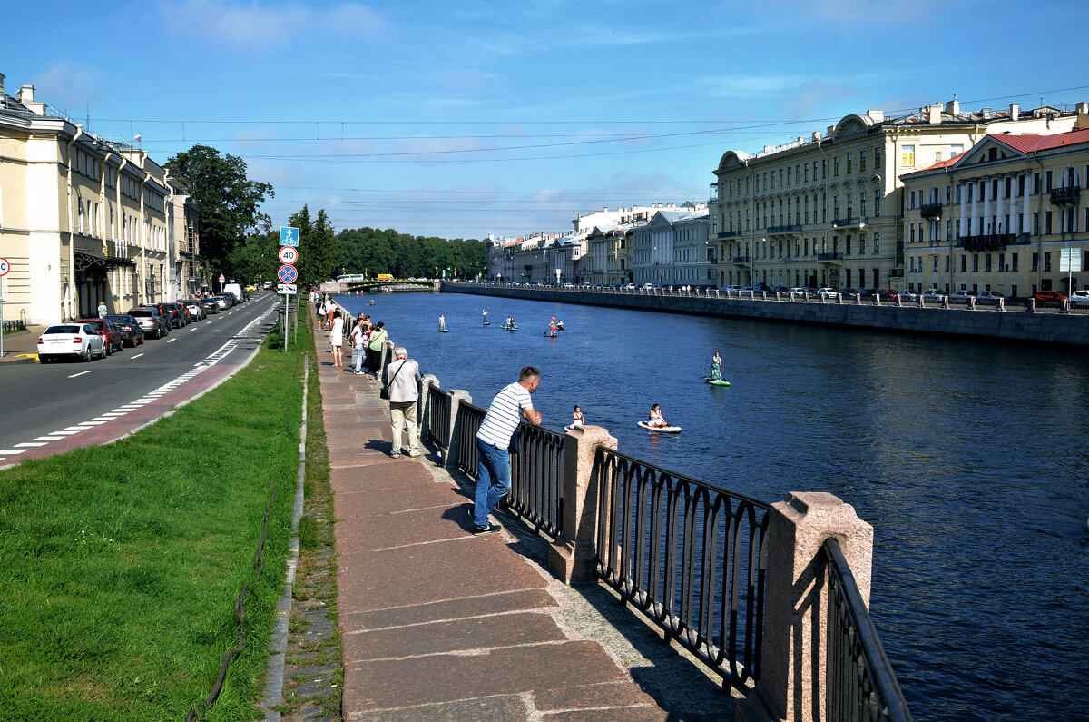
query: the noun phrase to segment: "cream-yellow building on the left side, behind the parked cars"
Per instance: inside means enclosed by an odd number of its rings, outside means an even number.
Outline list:
[[[164,300],[166,171],[140,149],[49,115],[0,74],[0,256],[4,315],[51,324]]]

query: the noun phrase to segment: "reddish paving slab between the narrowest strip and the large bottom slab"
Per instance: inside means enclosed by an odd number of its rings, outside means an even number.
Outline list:
[[[465,612],[473,609],[472,600]],[[346,634],[343,662],[400,659],[473,649],[563,641],[564,634],[548,614],[518,612],[498,616],[433,622],[412,627]]]

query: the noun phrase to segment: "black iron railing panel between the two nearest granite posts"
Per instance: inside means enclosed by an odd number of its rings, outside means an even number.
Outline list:
[[[603,447],[595,476],[598,576],[745,690],[760,674],[770,507]]]

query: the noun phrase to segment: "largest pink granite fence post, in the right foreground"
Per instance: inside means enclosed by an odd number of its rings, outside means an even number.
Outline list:
[[[873,527],[824,492],[791,492],[768,519],[760,679],[739,700],[745,722],[823,722],[827,713],[828,588],[821,546],[840,542],[869,606]]]

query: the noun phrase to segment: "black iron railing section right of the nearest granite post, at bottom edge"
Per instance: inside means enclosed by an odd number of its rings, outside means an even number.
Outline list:
[[[896,675],[835,539],[824,541],[818,562],[824,563],[828,583],[825,719],[910,722]]]

